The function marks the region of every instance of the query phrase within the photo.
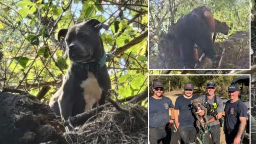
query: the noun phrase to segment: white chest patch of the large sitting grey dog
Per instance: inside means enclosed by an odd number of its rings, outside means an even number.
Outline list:
[[[86,102],[84,111],[92,109],[92,106],[99,101],[102,94],[102,88],[93,73],[87,72],[87,76],[88,78],[80,84],[84,90],[83,96]]]

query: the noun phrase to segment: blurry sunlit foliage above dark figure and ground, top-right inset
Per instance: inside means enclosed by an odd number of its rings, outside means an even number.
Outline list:
[[[150,54],[159,53],[158,45],[162,36],[170,31],[179,18],[199,6],[210,8],[215,19],[226,22],[231,27],[228,35],[248,31],[249,3],[248,0],[150,0]],[[222,38],[224,36],[218,41],[222,41]]]

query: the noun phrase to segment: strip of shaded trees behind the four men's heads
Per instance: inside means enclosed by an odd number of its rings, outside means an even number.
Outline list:
[[[150,93],[152,93],[152,85],[154,81],[161,81],[164,85],[164,92],[169,92],[173,90],[184,90],[184,84],[186,82],[192,82],[194,85],[194,92],[198,96],[206,94],[206,84],[209,81],[214,81],[216,84],[215,94],[223,99],[228,99],[228,86],[230,86],[234,78],[241,76],[149,76],[149,87]],[[240,88],[240,87],[239,87]],[[247,87],[244,86],[244,92],[247,93]],[[247,95],[248,96],[248,95]]]

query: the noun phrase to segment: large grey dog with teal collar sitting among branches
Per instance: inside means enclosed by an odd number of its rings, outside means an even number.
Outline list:
[[[91,19],[58,32],[65,38],[71,65],[49,105],[63,120],[105,103],[111,89],[106,53],[99,31],[108,28]]]

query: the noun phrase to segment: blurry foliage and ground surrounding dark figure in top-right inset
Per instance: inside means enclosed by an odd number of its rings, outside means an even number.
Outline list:
[[[150,0],[149,68],[182,68],[179,58],[176,58],[177,54],[173,54],[176,46],[169,35],[175,35],[174,27],[178,19],[199,6],[206,6],[211,9],[215,19],[225,22],[231,28],[228,35],[219,33],[216,36],[216,61],[213,68],[248,69],[249,4],[248,0]]]

